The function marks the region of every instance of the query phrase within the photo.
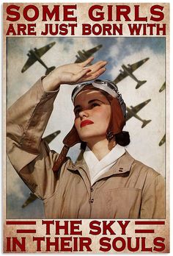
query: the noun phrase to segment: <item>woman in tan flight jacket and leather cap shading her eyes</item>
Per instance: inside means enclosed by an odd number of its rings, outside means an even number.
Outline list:
[[[164,218],[163,177],[119,146],[130,140],[122,132],[125,103],[112,82],[95,80],[73,90],[75,124],[60,154],[41,139],[59,85],[86,82],[106,70],[103,61],[87,66],[92,60],[56,68],[10,107],[10,161],[43,199],[46,218]],[[87,148],[73,164],[66,154],[78,142]]]

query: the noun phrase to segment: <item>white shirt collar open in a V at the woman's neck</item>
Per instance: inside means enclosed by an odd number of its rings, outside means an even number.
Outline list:
[[[105,174],[122,154],[125,154],[125,149],[117,144],[99,161],[95,154],[87,147],[84,152],[84,160],[89,168],[91,185],[93,185],[101,175]]]

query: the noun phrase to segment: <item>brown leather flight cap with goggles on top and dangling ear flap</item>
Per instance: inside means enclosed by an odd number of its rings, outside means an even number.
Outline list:
[[[114,82],[109,80],[96,79],[94,82],[84,83],[77,85],[72,92],[72,101],[74,100],[81,90],[103,90],[106,93],[104,95],[108,99],[111,105],[111,118],[108,124],[108,129],[106,132],[106,138],[108,141],[114,137],[119,132],[122,132],[125,126],[125,116],[126,116],[126,106],[122,99],[121,94]],[[59,154],[58,159],[54,163],[53,171],[58,171],[59,168],[65,163],[66,155],[71,146],[76,145],[76,143],[81,143],[81,139],[78,136],[75,125],[73,125],[70,132],[65,136],[63,143],[65,146],[62,148],[62,152]]]

